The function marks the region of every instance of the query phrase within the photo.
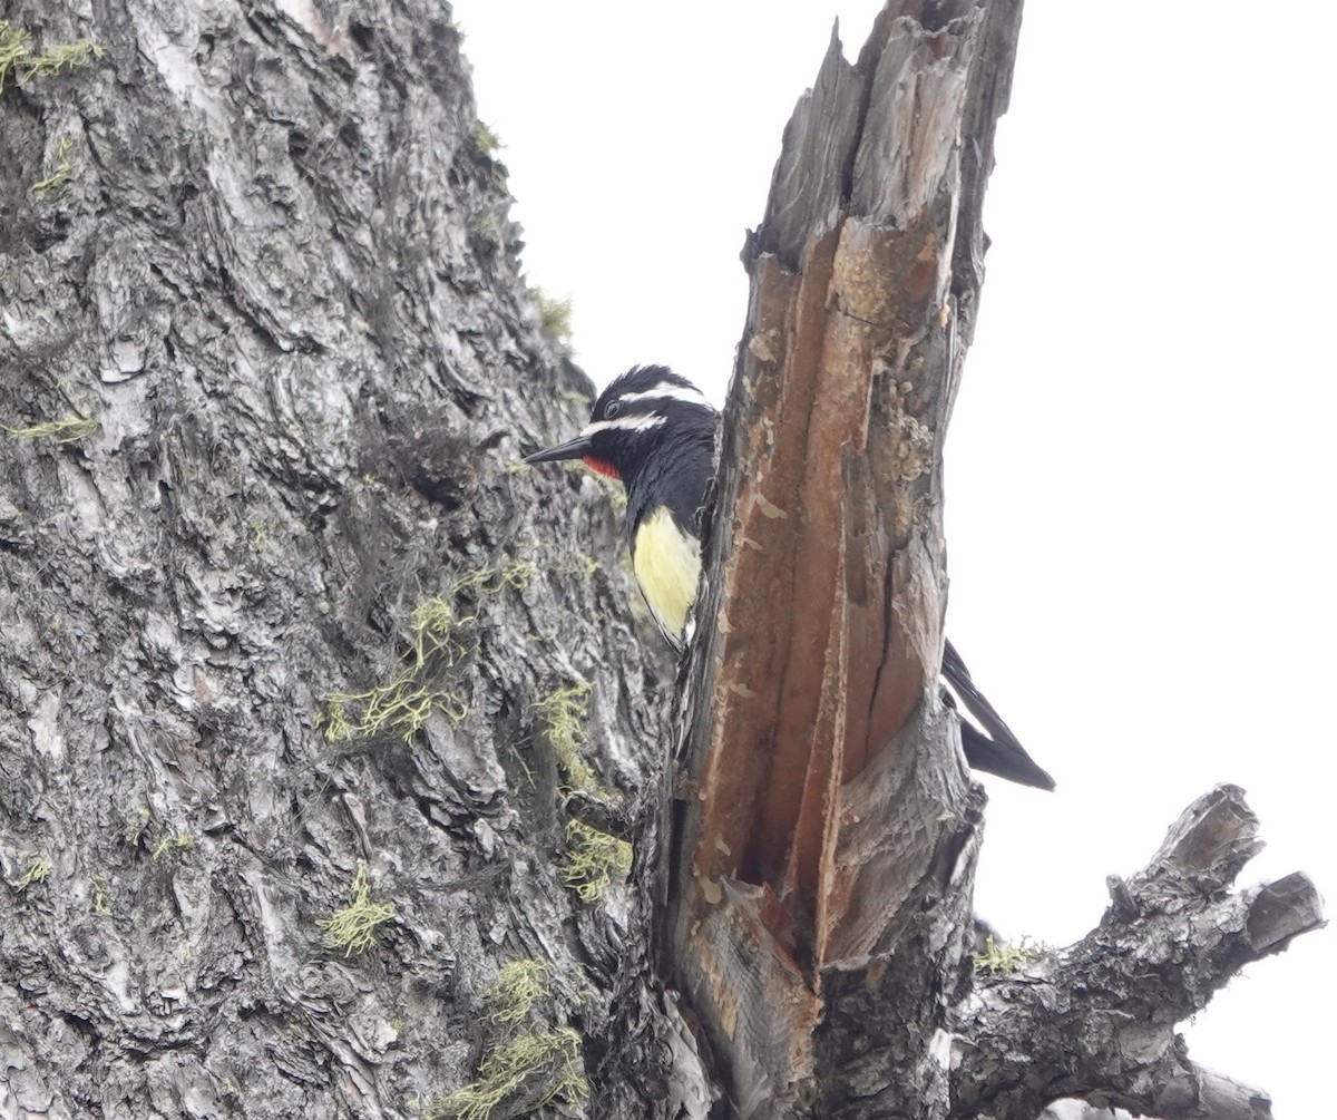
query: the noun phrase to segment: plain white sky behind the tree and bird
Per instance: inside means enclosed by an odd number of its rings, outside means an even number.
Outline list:
[[[459,0],[531,282],[603,384],[722,401],[743,230],[832,20],[880,5]],[[1337,7],[1029,0],[948,441],[948,631],[1058,779],[989,781],[977,903],[1066,944],[1198,794],[1249,791],[1241,883],[1337,883],[1332,831]],[[1247,969],[1194,1059],[1332,1113],[1329,930]]]

